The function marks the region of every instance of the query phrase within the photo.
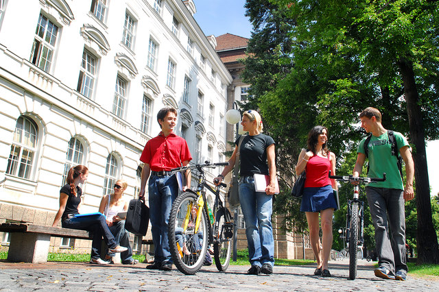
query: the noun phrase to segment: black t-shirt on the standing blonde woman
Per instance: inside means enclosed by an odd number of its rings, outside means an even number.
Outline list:
[[[239,144],[239,138],[235,141],[235,144]],[[240,174],[241,176],[253,175],[254,173],[261,173],[268,175],[267,164],[267,147],[274,144],[272,137],[257,134],[255,136],[247,135],[241,143],[241,149],[239,149],[239,160],[241,163]]]

